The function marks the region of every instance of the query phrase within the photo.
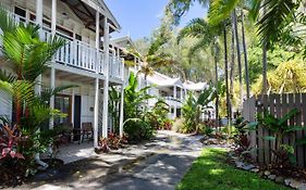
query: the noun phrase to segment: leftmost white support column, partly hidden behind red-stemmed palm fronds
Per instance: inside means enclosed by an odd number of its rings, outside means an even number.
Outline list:
[[[42,10],[44,10],[42,0],[36,0],[36,24],[40,26],[39,29],[40,40],[42,39]],[[40,94],[40,92],[41,92],[41,75],[39,75],[36,78],[36,85],[35,85],[35,93]]]

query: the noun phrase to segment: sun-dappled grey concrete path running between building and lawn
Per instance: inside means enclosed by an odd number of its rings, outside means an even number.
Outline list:
[[[159,131],[157,138],[142,145],[89,156],[64,169],[61,176],[33,182],[20,189],[102,189],[172,190],[199,155],[200,137]],[[70,168],[74,168],[68,164]]]

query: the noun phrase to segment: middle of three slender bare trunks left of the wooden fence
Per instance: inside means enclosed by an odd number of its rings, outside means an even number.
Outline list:
[[[237,51],[237,62],[238,62],[238,76],[240,76],[240,107],[242,107],[243,103],[243,84],[242,84],[242,64],[241,64],[241,48],[240,48],[240,38],[238,38],[238,30],[237,30],[237,17],[236,17],[236,10],[234,9],[232,13],[232,20],[234,23],[234,34],[235,34],[235,41],[236,41],[236,51]]]

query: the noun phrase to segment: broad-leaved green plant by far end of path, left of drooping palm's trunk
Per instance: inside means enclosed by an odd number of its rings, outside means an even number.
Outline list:
[[[212,87],[203,90],[198,98],[193,93],[188,97],[183,104],[182,111],[185,118],[182,132],[198,132],[198,124],[200,113],[207,109],[209,103],[216,98],[216,91]]]

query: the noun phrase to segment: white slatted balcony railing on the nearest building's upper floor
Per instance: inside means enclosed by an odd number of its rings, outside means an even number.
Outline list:
[[[16,23],[25,22],[32,23],[25,17],[10,13],[10,15],[16,21]],[[65,66],[72,66],[87,72],[106,75],[106,52],[101,49],[97,50],[90,45],[74,39],[65,34],[57,31],[57,36],[60,36],[66,40],[64,47],[62,47],[56,54],[54,61],[58,64]],[[51,38],[51,29],[48,27],[42,28],[42,39],[48,40]],[[97,56],[98,53],[98,56]],[[109,53],[109,77],[110,79],[123,80],[123,59]]]

